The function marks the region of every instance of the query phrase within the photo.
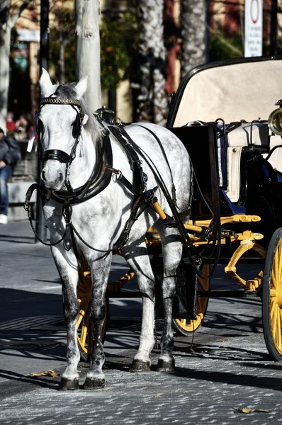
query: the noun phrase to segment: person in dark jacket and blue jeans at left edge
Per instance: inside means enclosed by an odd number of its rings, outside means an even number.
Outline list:
[[[9,193],[8,180],[21,159],[21,150],[13,135],[5,136],[0,128],[0,225],[8,222]]]

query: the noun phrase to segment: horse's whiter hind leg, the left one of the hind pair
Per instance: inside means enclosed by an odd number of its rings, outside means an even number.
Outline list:
[[[132,254],[133,251],[133,254]],[[142,294],[142,327],[138,351],[130,370],[150,370],[150,353],[154,346],[154,274],[147,255],[146,244],[123,249],[129,266],[135,271],[138,287]]]

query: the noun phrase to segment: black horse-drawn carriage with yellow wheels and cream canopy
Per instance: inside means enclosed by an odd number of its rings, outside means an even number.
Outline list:
[[[216,62],[189,72],[171,100],[167,128],[181,140],[191,158],[190,220],[179,224],[176,203],[169,203],[173,212],[170,217],[157,198],[150,200],[160,220],[167,227],[179,229],[183,245],[171,312],[174,329],[184,335],[196,331],[210,297],[258,296],[262,300],[266,346],[276,361],[282,359],[281,76],[282,60],[278,58]],[[278,108],[272,112],[274,105]],[[101,121],[113,123],[109,111],[102,108],[98,115]],[[133,142],[132,146],[137,149]],[[58,159],[54,152],[48,159]],[[64,158],[59,159],[63,162]],[[155,316],[162,317],[163,252],[159,230],[148,228],[145,241],[155,278]],[[122,253],[122,249],[115,249],[115,254]],[[239,263],[255,263],[261,271],[244,280],[237,271]],[[226,265],[230,282],[235,281],[241,290],[210,290],[210,278],[218,264]],[[106,336],[108,298],[136,297],[136,293],[122,291],[134,274],[130,269],[118,282],[108,282],[102,339]],[[76,327],[84,360],[93,350],[91,287],[88,263],[81,261]]]

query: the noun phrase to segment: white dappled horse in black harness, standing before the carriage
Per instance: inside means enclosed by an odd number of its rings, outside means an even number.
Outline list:
[[[171,188],[174,183],[175,205],[184,222],[188,220],[190,201],[191,166],[181,141],[166,128],[142,123],[142,127],[136,124],[126,126],[131,142],[122,136],[123,144],[120,144],[118,135],[113,135],[111,128],[109,132],[109,126],[98,120],[89,110],[82,98],[86,88],[87,77],[77,84],[52,84],[49,74],[43,70],[40,78],[43,101],[36,117],[39,149],[43,157],[41,178],[46,192],[43,211],[50,230],[50,242],[54,244],[51,247],[52,256],[62,278],[67,327],[67,368],[60,384],[64,390],[79,387],[77,365],[80,356],[76,324],[79,314],[78,267],[82,256],[89,264],[93,282],[90,318],[94,338],[91,365],[83,387],[89,390],[105,385],[102,371],[105,356],[101,342],[104,300],[112,248],[121,239],[123,256],[135,271],[142,294],[140,344],[131,370],[150,369],[150,352],[154,346],[154,273],[147,254],[145,234],[152,226],[157,228],[161,236],[164,261],[164,329],[157,370],[175,369],[171,310],[176,292],[176,268],[182,254],[181,239],[176,228],[164,226],[152,208],[152,200],[147,199],[147,204],[141,203],[140,199],[137,201],[140,202],[139,210],[148,206],[135,222],[132,205],[142,191],[140,192],[140,185],[136,186],[136,181],[140,183],[140,179],[133,176],[132,164],[135,161],[132,157],[130,159],[126,149],[128,143],[136,144],[135,148],[138,148],[137,152],[142,159],[142,169],[147,176],[145,184],[148,189],[154,188],[151,194],[157,196],[159,204],[168,215],[171,215],[171,208],[159,188],[155,170],[172,196]],[[135,166],[136,164],[140,167],[140,163],[135,162]],[[137,174],[140,172],[144,176],[137,167]],[[120,179],[121,176],[124,181]],[[132,220],[129,227],[132,229],[129,232],[126,229],[130,218]]]

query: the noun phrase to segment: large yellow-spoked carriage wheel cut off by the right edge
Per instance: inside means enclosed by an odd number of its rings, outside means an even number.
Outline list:
[[[262,280],[262,324],[264,340],[275,361],[282,360],[282,228],[269,242]]]

